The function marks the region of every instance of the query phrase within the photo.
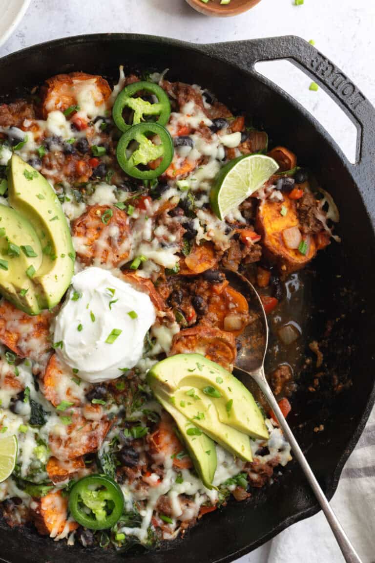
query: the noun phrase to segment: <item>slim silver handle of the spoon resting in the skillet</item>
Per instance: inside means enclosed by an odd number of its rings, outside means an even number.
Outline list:
[[[263,391],[263,394],[265,395],[269,405],[271,406],[275,414],[275,417],[277,418],[279,425],[282,431],[284,432],[284,435],[286,436],[288,442],[290,443],[293,453],[297,461],[299,462],[300,466],[302,467],[302,470],[304,471],[305,476],[311,485],[311,489],[313,489],[315,497],[317,497],[317,501],[322,507],[324,515],[328,520],[328,524],[331,526],[331,529],[333,531],[333,534],[335,535],[337,543],[340,546],[342,555],[344,555],[345,561],[347,563],[362,563],[354,547],[350,543],[349,538],[345,534],[344,529],[342,528],[340,522],[338,521],[335,512],[333,512],[331,506],[329,506],[326,495],[323,493],[323,490],[320,488],[320,485],[317,479],[315,478],[315,475],[311,470],[308,461],[306,460],[304,454],[302,453],[302,450],[299,444],[297,443],[297,440],[295,439],[293,432],[290,429],[290,426],[288,425],[286,419],[284,418],[284,415],[281,412],[279,405],[277,404],[277,400],[275,399],[274,394],[271,391],[268,382],[265,379],[263,368],[261,368],[257,373],[252,373],[251,376]]]

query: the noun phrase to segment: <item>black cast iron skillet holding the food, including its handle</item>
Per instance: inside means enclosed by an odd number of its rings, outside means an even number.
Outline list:
[[[273,59],[288,59],[299,66],[353,120],[358,129],[355,165],[347,162],[327,132],[295,100],[257,74],[256,61]],[[117,81],[120,64],[126,70],[169,68],[170,80],[201,84],[232,110],[254,115],[274,142],[288,146],[297,153],[299,163],[313,169],[336,200],[342,243],[331,244],[315,260],[310,297],[304,301],[304,346],[311,339],[327,337],[332,327],[324,351],[326,376],[320,392],[309,392],[313,376],[309,369],[302,369],[290,418],[320,485],[331,498],[375,400],[375,111],[335,65],[297,37],[209,45],[126,34],[58,39],[0,60],[0,97],[14,99],[24,88],[73,70]],[[336,383],[344,383],[339,394],[332,391],[335,377]],[[353,386],[345,390],[350,378]],[[315,434],[313,428],[322,423],[324,432]],[[100,548],[67,547],[65,542],[53,543],[34,531],[11,530],[0,522],[0,556],[12,563],[110,563],[124,557],[129,563],[232,561],[318,511],[299,467],[290,463],[283,473],[270,488],[255,490],[248,503],[229,503],[225,510],[202,519],[186,538],[161,551],[120,555]]]

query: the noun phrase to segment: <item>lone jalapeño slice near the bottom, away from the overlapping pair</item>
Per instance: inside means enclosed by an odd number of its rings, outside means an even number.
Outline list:
[[[89,530],[111,528],[124,510],[123,491],[106,475],[88,475],[71,489],[69,510],[74,520]]]

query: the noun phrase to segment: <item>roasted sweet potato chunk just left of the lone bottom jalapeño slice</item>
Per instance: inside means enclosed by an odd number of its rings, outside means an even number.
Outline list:
[[[56,538],[65,530],[69,533],[78,528],[77,522],[67,520],[67,503],[68,497],[63,497],[61,491],[33,501],[31,513],[39,534]]]

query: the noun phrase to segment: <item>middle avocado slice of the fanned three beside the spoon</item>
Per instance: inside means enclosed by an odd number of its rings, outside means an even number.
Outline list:
[[[152,390],[155,389],[154,393],[157,394],[157,397],[168,396],[162,391],[157,391],[158,383],[155,379],[153,381],[152,379],[152,376],[148,378],[148,382]],[[190,427],[196,426],[228,452],[243,459],[243,461],[252,462],[249,436],[220,422],[218,412],[210,397],[207,397],[197,388],[180,387],[173,395],[169,396],[169,401],[171,400],[175,409],[187,419]]]

